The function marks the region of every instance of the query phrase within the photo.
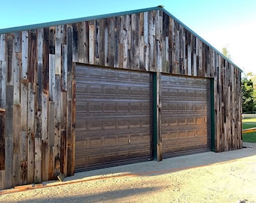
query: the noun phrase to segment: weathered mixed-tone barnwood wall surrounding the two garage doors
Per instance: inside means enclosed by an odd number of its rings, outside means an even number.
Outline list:
[[[0,189],[74,173],[75,62],[214,78],[215,151],[242,148],[239,68],[162,8],[0,34]]]

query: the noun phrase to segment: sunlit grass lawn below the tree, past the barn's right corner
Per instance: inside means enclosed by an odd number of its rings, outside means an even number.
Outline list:
[[[242,120],[242,129],[256,128],[256,118],[247,118]],[[242,141],[255,142],[256,132],[243,133]]]

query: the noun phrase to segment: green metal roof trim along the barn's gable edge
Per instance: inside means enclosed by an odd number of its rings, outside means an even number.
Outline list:
[[[84,21],[90,21],[90,20],[99,20],[99,19],[104,19],[104,18],[109,18],[109,17],[118,17],[118,16],[124,16],[124,15],[130,15],[130,14],[139,14],[143,12],[148,12],[148,11],[157,11],[161,10],[169,17],[172,17],[175,21],[177,21],[181,26],[184,26],[187,31],[191,32],[193,35],[195,35],[197,38],[199,38],[203,43],[205,43],[207,46],[211,47],[213,50],[215,50],[216,53],[221,55],[224,59],[226,59],[228,62],[230,62],[233,66],[239,69],[239,71],[242,72],[242,69],[239,68],[236,64],[234,64],[230,59],[228,59],[226,56],[224,56],[223,53],[215,49],[209,42],[204,40],[203,38],[200,37],[200,35],[197,35],[196,32],[194,32],[192,29],[187,27],[184,23],[182,23],[180,20],[178,20],[176,17],[174,17],[172,14],[170,14],[168,11],[166,11],[163,6],[157,6],[157,7],[152,7],[152,8],[144,8],[144,9],[139,9],[139,10],[133,10],[133,11],[123,11],[123,12],[118,12],[118,13],[112,13],[112,14],[103,14],[103,15],[96,15],[96,16],[91,16],[91,17],[81,17],[81,18],[75,18],[71,20],[59,20],[59,21],[54,21],[50,23],[38,23],[34,25],[29,25],[29,26],[17,26],[13,28],[7,28],[7,29],[0,29],[0,35],[1,34],[7,34],[10,32],[20,32],[24,30],[32,30],[32,29],[41,29],[41,28],[46,28],[50,26],[60,26],[60,25],[65,25],[65,24],[72,24],[72,23],[79,23],[79,22],[84,22]]]

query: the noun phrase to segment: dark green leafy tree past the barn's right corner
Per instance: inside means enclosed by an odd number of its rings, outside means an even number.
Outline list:
[[[253,82],[244,77],[242,78],[242,113],[253,113],[256,111],[255,105]]]

